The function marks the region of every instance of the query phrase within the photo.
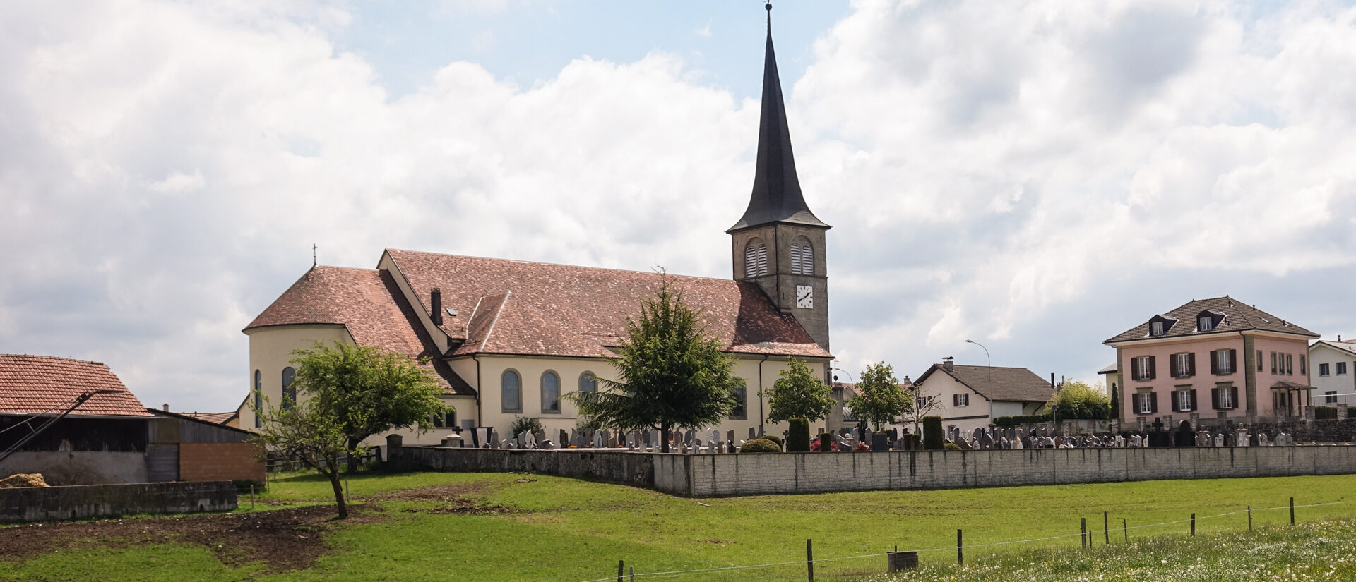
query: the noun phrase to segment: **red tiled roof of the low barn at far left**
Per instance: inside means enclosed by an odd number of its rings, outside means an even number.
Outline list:
[[[95,394],[71,414],[149,417],[107,365],[54,356],[0,355],[0,414],[60,414],[75,398]]]

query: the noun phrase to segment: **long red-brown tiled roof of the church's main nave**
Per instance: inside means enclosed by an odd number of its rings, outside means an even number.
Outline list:
[[[388,249],[415,295],[442,291],[443,329],[468,340],[458,353],[601,356],[625,333],[626,315],[662,277],[641,271],[526,263]],[[833,357],[753,283],[666,275],[728,352]],[[477,309],[479,305],[479,309]],[[488,311],[498,313],[492,319]]]

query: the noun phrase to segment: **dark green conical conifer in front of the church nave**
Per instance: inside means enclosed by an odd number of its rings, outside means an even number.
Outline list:
[[[701,314],[683,302],[682,292],[659,287],[640,305],[640,315],[626,315],[626,336],[617,356],[617,380],[598,378],[603,390],[570,393],[579,414],[597,428],[617,430],[700,428],[727,418],[735,409],[735,375],[724,344],[712,337]],[[663,452],[669,452],[669,439]]]

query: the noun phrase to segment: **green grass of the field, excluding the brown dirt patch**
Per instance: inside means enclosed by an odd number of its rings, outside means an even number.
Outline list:
[[[399,494],[431,486],[453,487],[457,495],[469,499],[462,506],[494,510],[437,513],[449,506],[446,499]],[[641,579],[651,577],[640,574],[658,571],[788,562],[776,567],[663,578],[803,581],[807,539],[814,539],[816,559],[835,559],[816,564],[816,579],[877,579],[885,567],[885,558],[877,554],[896,545],[933,550],[921,554],[925,571],[957,575],[945,570],[956,559],[957,528],[964,531],[965,544],[975,545],[965,551],[965,573],[978,573],[984,571],[986,564],[994,568],[1026,559],[1022,556],[1031,551],[1047,552],[1041,554],[1047,556],[1041,562],[1127,552],[1123,518],[1132,528],[1128,531],[1132,543],[1168,544],[1165,540],[1186,539],[1189,524],[1146,525],[1186,520],[1195,512],[1197,545],[1203,548],[1219,547],[1199,544],[1204,537],[1233,540],[1229,536],[1248,529],[1243,513],[1210,516],[1238,512],[1248,505],[1254,508],[1254,527],[1267,528],[1267,535],[1306,535],[1304,529],[1288,528],[1288,510],[1264,509],[1283,508],[1290,497],[1295,497],[1296,505],[1338,502],[1299,508],[1300,522],[1356,518],[1356,503],[1348,502],[1356,501],[1356,476],[686,499],[540,475],[405,474],[355,476],[348,490],[357,503],[355,518],[330,527],[324,552],[302,570],[268,571],[268,564],[258,562],[222,563],[201,544],[126,544],[102,539],[3,560],[0,581],[122,579],[136,573],[137,579],[146,581],[578,582],[614,577],[618,559],[635,567]],[[275,480],[271,490],[259,497],[255,512],[321,503],[330,495],[327,482],[312,475],[293,475]],[[241,498],[240,505],[240,512],[250,512],[248,499]],[[1113,529],[1109,548],[1104,547],[1102,512],[1109,513]],[[1088,552],[1078,550],[1082,517],[1096,531],[1094,547]],[[1345,548],[1351,548],[1356,541],[1352,532],[1348,524],[1333,529],[1329,537],[1345,536]],[[1066,537],[986,545],[1055,536]],[[1177,559],[1172,550],[1159,551],[1163,552]],[[861,555],[871,556],[852,558]],[[1093,567],[1097,564],[1094,562]]]

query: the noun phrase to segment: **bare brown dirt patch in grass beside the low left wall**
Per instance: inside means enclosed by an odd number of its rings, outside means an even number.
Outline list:
[[[320,505],[259,513],[27,524],[0,528],[0,559],[64,548],[160,543],[205,545],[232,566],[262,562],[270,571],[300,570],[324,554],[324,536],[339,524],[381,521],[361,506],[350,506],[346,521],[334,517],[332,505]]]

